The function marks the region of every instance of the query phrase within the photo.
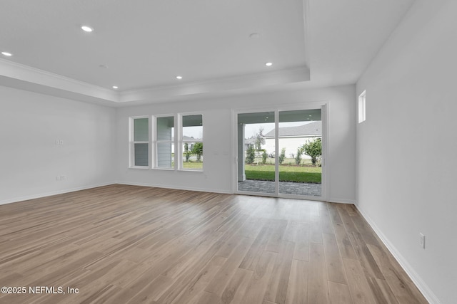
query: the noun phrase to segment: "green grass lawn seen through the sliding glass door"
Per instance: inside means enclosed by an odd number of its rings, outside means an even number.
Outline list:
[[[246,164],[246,179],[274,181],[274,166],[270,164]],[[322,168],[308,166],[279,166],[279,182],[321,183]]]

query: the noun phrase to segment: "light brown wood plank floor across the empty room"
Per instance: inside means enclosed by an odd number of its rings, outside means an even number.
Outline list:
[[[112,185],[0,206],[0,248],[66,292],[0,303],[427,303],[348,204]]]

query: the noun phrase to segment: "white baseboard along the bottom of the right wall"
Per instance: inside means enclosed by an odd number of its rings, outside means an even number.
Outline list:
[[[411,281],[413,281],[414,284],[416,284],[418,290],[421,291],[423,296],[428,300],[428,303],[431,304],[441,304],[440,300],[438,300],[438,297],[433,293],[433,291],[428,287],[428,285],[422,280],[421,276],[416,273],[414,268],[408,263],[406,258],[404,258],[400,251],[396,249],[393,244],[388,241],[387,237],[381,232],[380,229],[378,229],[378,226],[374,224],[374,222],[371,220],[369,216],[367,216],[357,205],[356,205],[357,210],[360,212],[360,214],[363,216],[363,219],[365,219],[368,224],[370,224],[371,228],[376,232],[376,234],[379,236],[379,239],[383,241],[384,245],[388,248],[389,251],[391,251],[393,257],[398,261],[400,264],[401,268],[403,268],[403,271],[408,274],[408,276],[411,278]]]

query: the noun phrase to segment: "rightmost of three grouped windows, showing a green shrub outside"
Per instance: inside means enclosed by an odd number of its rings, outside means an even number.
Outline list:
[[[181,168],[188,170],[203,170],[203,115],[182,115],[182,132],[178,145]]]

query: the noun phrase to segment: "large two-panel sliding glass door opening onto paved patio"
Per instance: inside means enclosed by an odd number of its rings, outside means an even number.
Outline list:
[[[238,113],[237,192],[322,199],[324,112]]]

